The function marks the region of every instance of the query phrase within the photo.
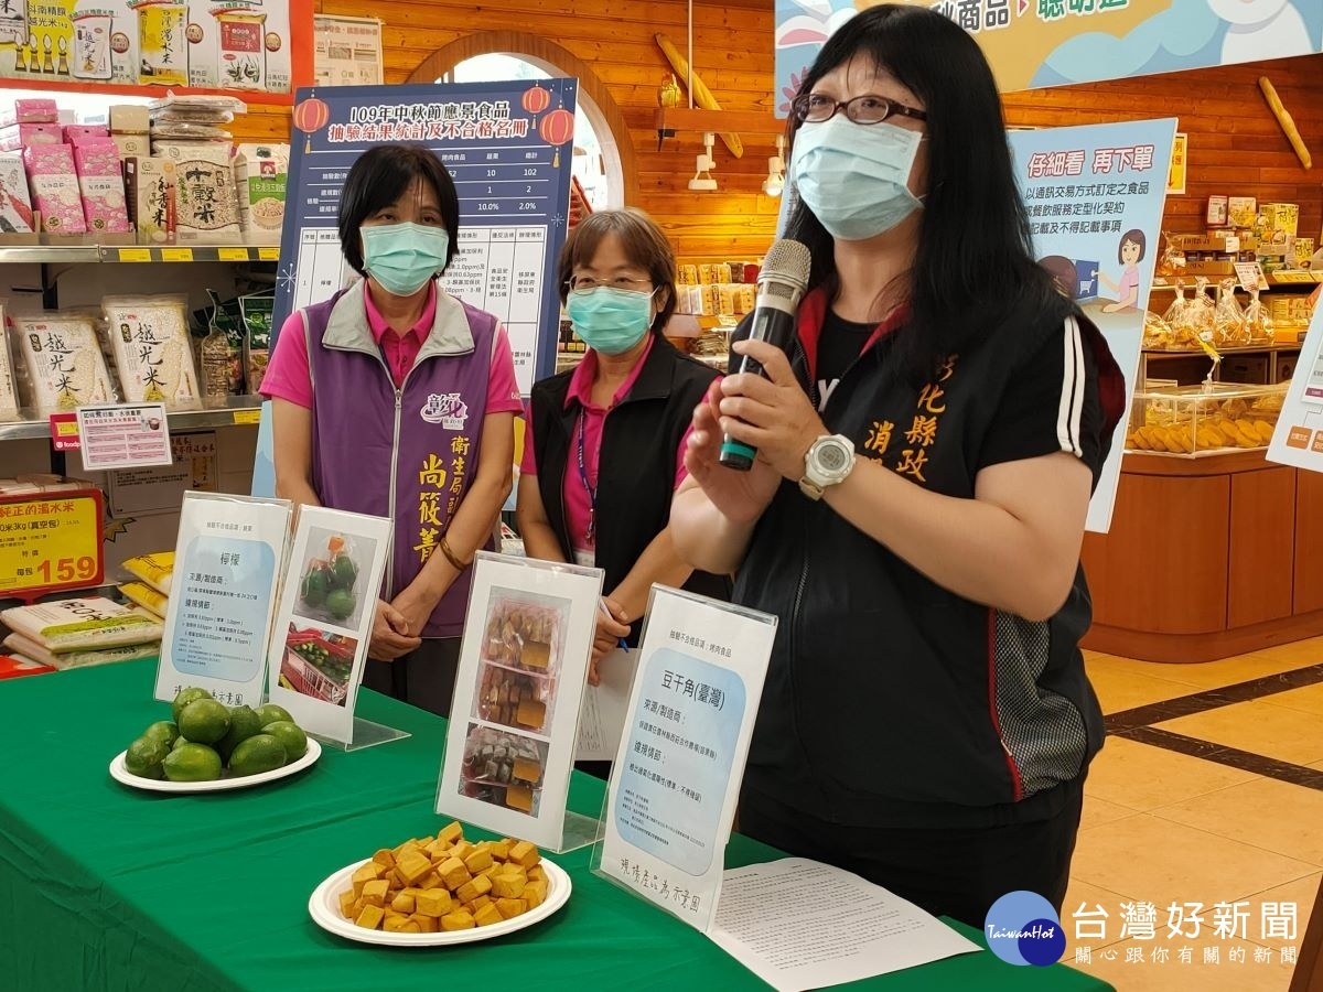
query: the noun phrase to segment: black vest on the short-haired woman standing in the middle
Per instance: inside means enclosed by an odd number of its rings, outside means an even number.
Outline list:
[[[565,403],[573,370],[552,376],[533,386],[533,452],[537,487],[546,520],[561,544],[566,561],[574,548],[565,526],[565,470],[578,471],[574,425],[578,401]],[[602,590],[610,594],[630,573],[671,520],[675,495],[675,460],[693,407],[706,394],[717,373],[680,354],[659,337],[628,394],[602,426],[602,451],[597,479],[597,567],[606,573]],[[730,599],[730,579],[695,571],[684,589],[714,599]],[[642,620],[630,632],[638,643]]]

